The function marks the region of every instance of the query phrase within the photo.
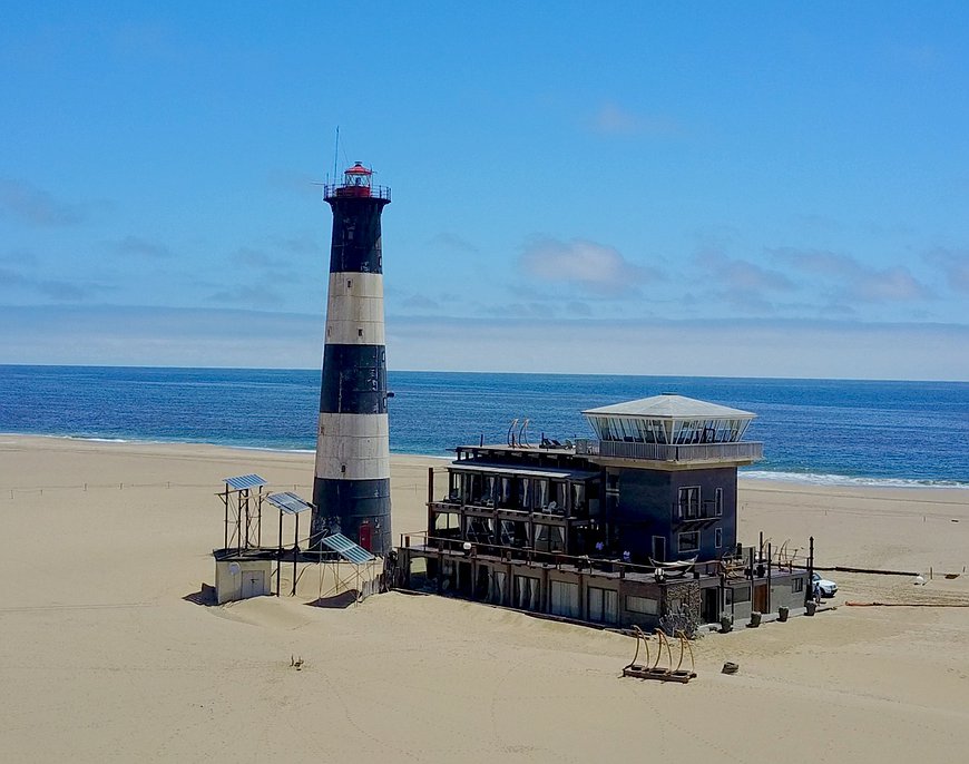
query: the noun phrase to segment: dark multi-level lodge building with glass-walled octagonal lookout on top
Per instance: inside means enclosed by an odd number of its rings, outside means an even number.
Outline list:
[[[803,607],[813,560],[737,539],[755,414],[675,394],[584,411],[595,438],[461,445],[402,537],[422,588],[605,626],[696,627]],[[442,480],[443,478],[443,480]]]

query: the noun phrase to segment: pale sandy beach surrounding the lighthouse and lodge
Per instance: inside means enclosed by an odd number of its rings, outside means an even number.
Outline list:
[[[618,678],[628,637],[440,597],[196,604],[221,480],[307,496],[312,461],[0,435],[0,760],[966,761],[969,607],[844,603],[969,605],[967,490],[744,481],[747,542],[932,580],[829,574],[836,609],[708,635],[674,686]],[[433,463],[394,457],[395,533]]]

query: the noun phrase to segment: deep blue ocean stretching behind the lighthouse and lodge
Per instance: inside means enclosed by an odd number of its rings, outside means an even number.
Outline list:
[[[969,488],[969,383],[389,372],[390,447],[447,457],[505,442],[589,437],[584,409],[675,392],[757,414],[748,477]],[[0,432],[92,440],[315,447],[320,372],[0,365]]]

